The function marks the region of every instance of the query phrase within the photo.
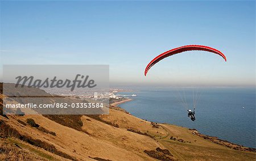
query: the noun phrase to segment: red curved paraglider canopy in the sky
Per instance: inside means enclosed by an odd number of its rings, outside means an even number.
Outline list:
[[[160,54],[159,56],[155,57],[150,63],[148,63],[148,65],[144,71],[144,75],[146,76],[148,70],[150,70],[150,68],[153,65],[155,65],[155,63],[159,62],[160,60],[162,60],[168,56],[172,56],[177,53],[187,52],[190,50],[203,50],[206,52],[215,53],[215,54],[218,54],[219,56],[221,56],[222,58],[224,58],[224,60],[226,61],[225,55],[217,49],[210,48],[209,46],[203,46],[203,45],[185,45],[185,46],[180,46],[178,48],[168,50],[167,52],[164,52],[164,53]]]

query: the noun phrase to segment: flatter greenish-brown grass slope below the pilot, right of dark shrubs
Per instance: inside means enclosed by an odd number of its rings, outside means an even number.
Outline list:
[[[158,141],[167,147],[179,160],[255,160],[255,152],[244,152],[218,145],[203,139],[187,128],[175,125],[160,124],[168,130],[168,136]],[[170,139],[174,136],[188,142],[178,142]]]

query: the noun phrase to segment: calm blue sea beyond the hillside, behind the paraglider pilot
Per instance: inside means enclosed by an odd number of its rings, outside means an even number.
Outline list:
[[[239,145],[256,148],[255,88],[134,88],[133,101],[119,106],[132,115],[154,122],[166,122],[195,128],[200,133],[216,136]],[[193,91],[199,91],[196,121],[187,116],[180,103],[185,96],[193,108]],[[180,97],[181,96],[181,97]],[[244,107],[244,108],[243,108]],[[193,110],[193,109],[192,109]]]

